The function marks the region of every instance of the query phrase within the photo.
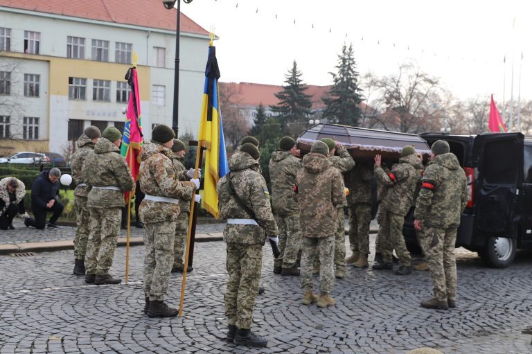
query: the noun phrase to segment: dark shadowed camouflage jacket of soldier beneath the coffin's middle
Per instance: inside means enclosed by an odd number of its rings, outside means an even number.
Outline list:
[[[347,204],[371,204],[371,179],[373,166],[357,163],[357,166],[344,174],[346,187],[349,189]]]

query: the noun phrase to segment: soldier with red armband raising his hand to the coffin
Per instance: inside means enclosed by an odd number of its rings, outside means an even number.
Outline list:
[[[379,182],[387,186],[384,189],[381,201],[382,231],[381,242],[383,263],[375,263],[373,269],[393,269],[392,252],[396,250],[400,260],[397,275],[411,274],[411,256],[402,236],[402,224],[405,222],[412,205],[416,184],[420,179],[420,170],[423,168],[421,161],[414,154],[412,146],[402,148],[399,163],[393,166],[390,172],[385,172],[380,166],[380,155],[375,156],[375,176]]]

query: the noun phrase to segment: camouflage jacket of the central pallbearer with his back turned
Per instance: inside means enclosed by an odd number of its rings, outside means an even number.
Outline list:
[[[337,206],[346,202],[342,174],[322,154],[306,154],[303,168],[297,172],[301,233],[321,238],[335,234]]]

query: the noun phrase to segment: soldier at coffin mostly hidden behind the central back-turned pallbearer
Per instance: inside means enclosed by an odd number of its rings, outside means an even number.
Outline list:
[[[329,148],[328,160],[332,163],[332,167],[342,174],[355,167],[355,160],[341,143],[328,138],[323,138],[321,141],[326,143]],[[335,152],[337,152],[337,156],[335,156]],[[342,182],[344,182],[343,175]],[[346,216],[344,215],[344,206],[346,204],[336,206],[335,276],[337,278],[344,278],[344,268],[346,267]]]

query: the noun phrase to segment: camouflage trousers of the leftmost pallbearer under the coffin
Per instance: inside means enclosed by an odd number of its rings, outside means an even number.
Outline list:
[[[299,215],[275,214],[275,222],[279,229],[279,249],[281,254],[274,260],[276,267],[293,267],[301,251],[301,228]]]

